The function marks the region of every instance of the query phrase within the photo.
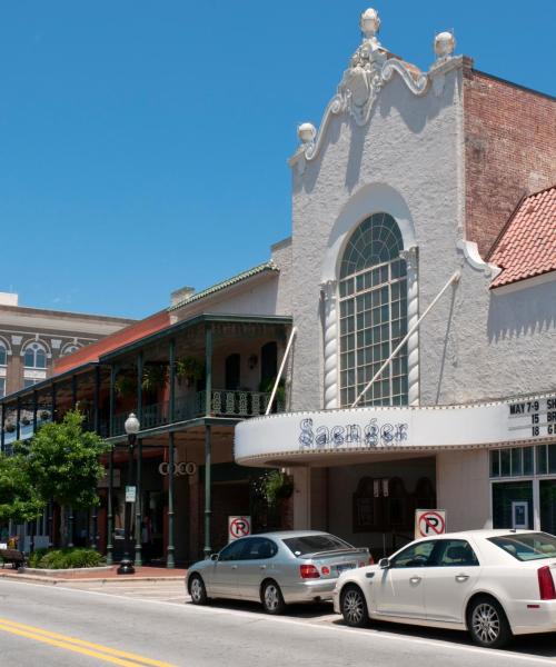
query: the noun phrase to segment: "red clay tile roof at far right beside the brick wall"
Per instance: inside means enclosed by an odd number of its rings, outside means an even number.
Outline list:
[[[556,270],[556,186],[522,200],[488,261],[503,269],[490,287]]]

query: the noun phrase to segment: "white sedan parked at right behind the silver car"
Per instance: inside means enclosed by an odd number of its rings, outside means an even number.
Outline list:
[[[415,540],[378,565],[340,575],[334,609],[369,619],[468,630],[499,648],[513,635],[556,631],[556,537],[469,530]]]

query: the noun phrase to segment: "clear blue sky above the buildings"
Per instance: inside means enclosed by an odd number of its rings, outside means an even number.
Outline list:
[[[371,3],[373,6],[373,3]],[[0,8],[0,291],[142,317],[290,233],[296,127],[360,41],[354,0],[18,0]],[[379,0],[426,69],[454,29],[477,69],[556,93],[554,0]]]

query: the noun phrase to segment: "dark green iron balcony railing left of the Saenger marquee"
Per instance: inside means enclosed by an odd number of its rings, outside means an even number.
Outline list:
[[[168,424],[187,421],[206,415],[206,391],[196,391],[190,396],[177,398],[173,408],[173,419],[170,420],[169,401],[157,402],[145,406],[141,416],[141,430],[148,430]],[[212,417],[229,417],[232,419],[248,419],[265,415],[270,400],[270,394],[260,391],[244,391],[214,389],[210,400],[210,414]],[[281,400],[275,399],[274,411],[282,412],[285,406]],[[129,412],[120,412],[113,416],[112,436],[125,432],[123,424]],[[108,422],[101,425],[102,435],[108,436]]]

